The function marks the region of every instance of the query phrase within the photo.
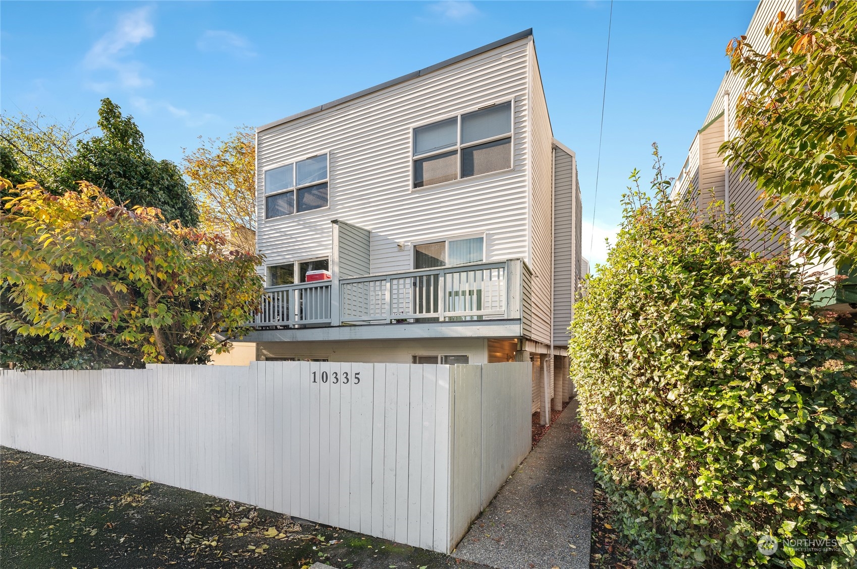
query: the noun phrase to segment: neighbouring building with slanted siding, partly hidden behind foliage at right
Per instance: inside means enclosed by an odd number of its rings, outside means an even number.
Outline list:
[[[766,51],[770,44],[764,28],[776,19],[779,12],[787,18],[800,14],[803,0],[761,0],[747,27],[746,42],[758,51]],[[752,225],[753,219],[765,216],[768,221],[779,227],[783,223],[778,217],[763,210],[763,200],[759,199],[756,183],[742,175],[740,166],[730,169],[719,153],[722,143],[735,132],[735,104],[745,91],[745,80],[731,70],[723,76],[720,87],[711,103],[708,115],[693,138],[687,159],[676,178],[672,198],[694,199],[700,210],[704,210],[715,200],[730,204],[740,216],[741,233],[744,244],[752,252],[764,255],[777,255],[788,252],[788,240],[771,238],[770,234],[759,231]],[[692,188],[692,191],[691,191]],[[795,258],[794,260],[798,260]],[[826,276],[836,276],[833,264],[807,264],[807,272],[823,271]],[[857,288],[844,287],[842,291],[828,290],[819,296],[820,304],[834,310],[852,310],[857,305]],[[851,305],[849,305],[849,303]]]

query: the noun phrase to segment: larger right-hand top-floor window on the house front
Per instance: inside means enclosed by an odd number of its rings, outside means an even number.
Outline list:
[[[512,168],[512,101],[414,128],[414,187]]]

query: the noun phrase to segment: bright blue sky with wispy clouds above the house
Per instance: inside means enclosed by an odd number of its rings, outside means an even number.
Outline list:
[[[156,158],[532,27],[554,136],[578,155],[584,257],[604,258],[633,168],[656,141],[675,175],[756,2],[615,2],[595,211],[609,2],[0,3],[0,108],[94,124],[132,114]]]

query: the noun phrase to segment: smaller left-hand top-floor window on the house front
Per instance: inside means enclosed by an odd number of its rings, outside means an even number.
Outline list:
[[[327,154],[265,170],[265,217],[327,206]]]

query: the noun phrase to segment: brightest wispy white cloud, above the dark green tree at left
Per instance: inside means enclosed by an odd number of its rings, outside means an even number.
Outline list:
[[[83,66],[93,72],[109,72],[108,80],[89,81],[95,91],[106,91],[113,86],[137,89],[152,84],[143,77],[141,62],[129,59],[131,51],[155,35],[151,21],[151,7],[136,9],[119,16],[117,25],[96,41],[83,59]]]

